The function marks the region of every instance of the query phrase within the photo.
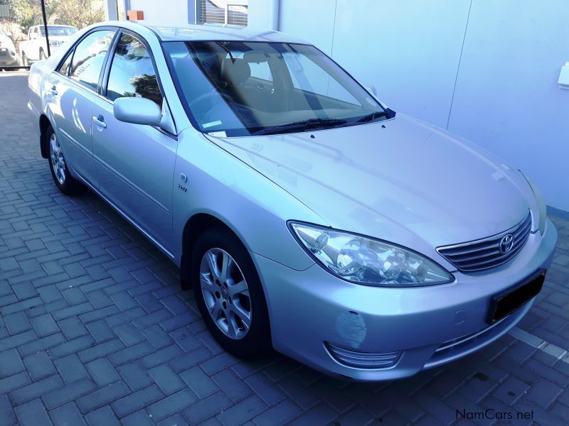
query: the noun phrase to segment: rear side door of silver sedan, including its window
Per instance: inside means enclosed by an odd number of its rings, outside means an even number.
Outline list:
[[[81,40],[50,77],[48,96],[55,131],[63,143],[68,168],[97,187],[95,160],[92,156],[93,106],[105,56],[114,29],[93,31]]]

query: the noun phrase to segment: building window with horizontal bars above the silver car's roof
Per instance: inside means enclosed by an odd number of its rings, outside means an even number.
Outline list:
[[[248,0],[197,0],[197,23],[247,26]]]

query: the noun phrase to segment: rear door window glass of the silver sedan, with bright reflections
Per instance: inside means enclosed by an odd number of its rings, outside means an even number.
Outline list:
[[[75,48],[69,77],[97,90],[102,62],[115,31],[102,30],[90,33]]]

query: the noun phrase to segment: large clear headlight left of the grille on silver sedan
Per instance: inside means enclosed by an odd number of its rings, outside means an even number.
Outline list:
[[[444,268],[409,249],[317,225],[289,222],[289,226],[317,263],[352,283],[415,287],[454,281]]]

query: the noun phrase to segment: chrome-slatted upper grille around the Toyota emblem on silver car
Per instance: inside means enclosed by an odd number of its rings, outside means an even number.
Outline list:
[[[447,261],[462,272],[482,271],[501,265],[516,256],[521,250],[531,231],[531,213],[528,212],[519,224],[501,234],[490,236],[469,243],[455,244],[454,246],[439,247],[437,251]],[[513,237],[511,249],[504,253],[500,243],[505,236]]]

